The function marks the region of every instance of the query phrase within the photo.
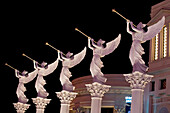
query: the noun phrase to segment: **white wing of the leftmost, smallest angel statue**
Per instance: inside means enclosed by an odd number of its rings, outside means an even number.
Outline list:
[[[38,69],[35,69],[33,72],[30,72],[27,77],[21,77],[20,82],[23,82],[24,84],[31,82],[36,75],[38,74]]]

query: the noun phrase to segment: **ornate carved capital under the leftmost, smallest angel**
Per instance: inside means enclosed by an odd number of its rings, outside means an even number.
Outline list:
[[[21,102],[13,103],[14,108],[17,110],[17,113],[24,113],[30,106],[30,104],[23,104]]]

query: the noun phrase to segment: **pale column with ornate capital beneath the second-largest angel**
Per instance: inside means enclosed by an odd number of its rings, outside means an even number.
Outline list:
[[[111,86],[94,82],[86,84],[86,87],[91,94],[91,113],[101,113],[102,97]]]

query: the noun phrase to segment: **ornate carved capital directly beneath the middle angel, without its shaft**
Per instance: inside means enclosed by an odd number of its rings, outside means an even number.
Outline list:
[[[71,101],[76,98],[76,95],[78,93],[75,92],[69,92],[69,91],[61,91],[61,92],[56,92],[57,97],[60,99],[61,104],[70,104]]]

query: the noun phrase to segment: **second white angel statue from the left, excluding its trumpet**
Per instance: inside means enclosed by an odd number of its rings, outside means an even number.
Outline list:
[[[46,62],[42,62],[41,65],[39,66],[38,62],[36,62],[35,60],[33,62],[34,62],[34,68],[38,69],[38,77],[35,83],[35,88],[38,93],[38,97],[46,98],[49,95],[49,93],[44,88],[46,81],[44,80],[43,77],[54,72],[54,70],[58,66],[58,58],[55,62],[49,65]]]

